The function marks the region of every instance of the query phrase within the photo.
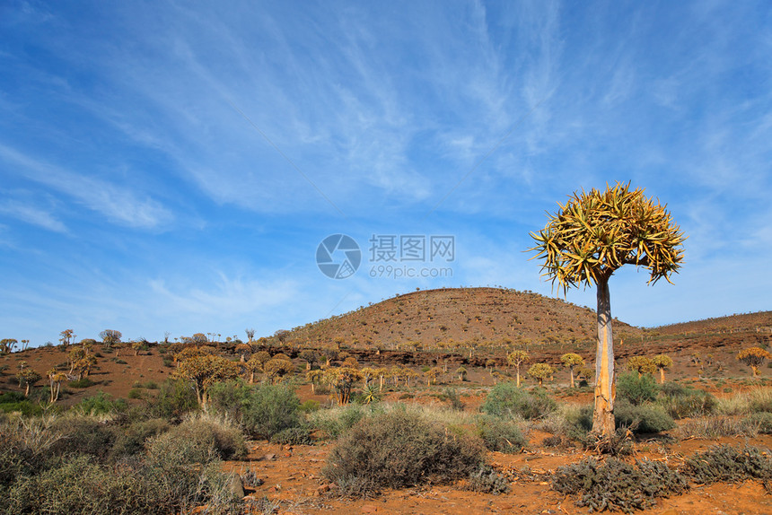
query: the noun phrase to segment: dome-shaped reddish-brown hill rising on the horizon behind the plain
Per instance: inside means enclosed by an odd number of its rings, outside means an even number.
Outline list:
[[[595,312],[534,292],[501,288],[444,288],[398,295],[337,317],[295,327],[285,335],[300,345],[353,347],[420,345],[569,344],[594,341]],[[621,337],[645,332],[619,320]]]

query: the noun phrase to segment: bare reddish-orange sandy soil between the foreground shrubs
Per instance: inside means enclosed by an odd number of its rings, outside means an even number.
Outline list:
[[[531,433],[531,441],[540,441],[544,434]],[[718,441],[691,440],[674,444],[670,449],[656,441],[636,444],[637,458],[650,458],[680,465],[698,450],[717,443],[741,445],[745,439],[723,438]],[[772,447],[772,437],[748,441],[752,445]],[[532,446],[528,452],[507,455],[490,452],[487,461],[510,480],[511,492],[501,495],[473,493],[463,489],[463,482],[448,485],[426,485],[406,490],[386,490],[373,499],[352,500],[336,493],[335,486],[321,477],[321,468],[334,443],[315,446],[280,446],[267,442],[255,443],[249,458],[228,462],[225,469],[238,473],[253,470],[265,481],[257,488],[247,489],[248,496],[264,495],[279,502],[281,513],[589,513],[575,505],[575,498],[566,497],[550,488],[549,476],[557,467],[580,461],[590,453],[576,450],[552,450]],[[523,467],[530,474],[523,474]],[[758,482],[742,484],[711,484],[693,486],[689,493],[662,499],[642,514],[747,514],[772,513],[772,496]]]

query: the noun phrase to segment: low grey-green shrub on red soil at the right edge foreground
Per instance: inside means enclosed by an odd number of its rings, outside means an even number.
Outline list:
[[[738,483],[746,479],[770,481],[772,458],[768,450],[748,445],[741,448],[717,445],[687,459],[683,472],[696,483],[703,484],[718,481]]]

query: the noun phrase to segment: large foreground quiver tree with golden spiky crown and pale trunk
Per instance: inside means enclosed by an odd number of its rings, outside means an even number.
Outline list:
[[[623,265],[644,266],[649,284],[677,273],[683,262],[683,232],[643,188],[617,183],[569,196],[539,233],[531,232],[542,270],[564,294],[582,284],[597,286],[598,341],[595,359],[595,406],[592,432],[614,433],[614,347],[609,279]]]

